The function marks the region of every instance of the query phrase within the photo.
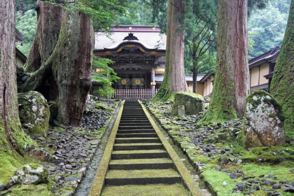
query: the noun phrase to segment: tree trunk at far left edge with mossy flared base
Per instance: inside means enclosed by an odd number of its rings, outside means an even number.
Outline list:
[[[36,145],[22,130],[18,115],[15,66],[15,1],[0,0],[0,148],[24,154]]]

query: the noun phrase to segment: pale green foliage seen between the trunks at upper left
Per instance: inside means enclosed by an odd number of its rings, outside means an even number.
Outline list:
[[[17,12],[15,19],[16,28],[24,35],[23,46],[17,43],[16,47],[27,55],[34,41],[34,35],[37,29],[37,13],[35,10],[28,10],[24,14]]]

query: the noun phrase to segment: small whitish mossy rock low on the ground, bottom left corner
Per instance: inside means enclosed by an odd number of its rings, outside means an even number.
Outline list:
[[[28,164],[18,169],[11,177],[13,184],[41,184],[48,181],[47,168],[38,164]]]

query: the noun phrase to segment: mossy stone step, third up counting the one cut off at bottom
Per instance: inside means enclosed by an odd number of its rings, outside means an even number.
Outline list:
[[[168,158],[158,159],[119,159],[111,160],[109,170],[162,170],[173,169],[174,165]]]

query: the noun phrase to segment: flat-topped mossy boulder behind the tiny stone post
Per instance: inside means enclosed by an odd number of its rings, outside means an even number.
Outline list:
[[[172,116],[178,115],[178,106],[185,106],[185,114],[193,115],[198,114],[204,108],[204,98],[196,93],[179,92],[174,95],[174,101],[172,105]]]

